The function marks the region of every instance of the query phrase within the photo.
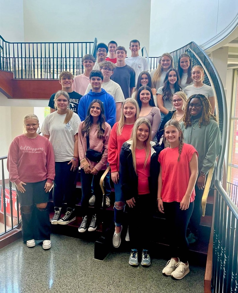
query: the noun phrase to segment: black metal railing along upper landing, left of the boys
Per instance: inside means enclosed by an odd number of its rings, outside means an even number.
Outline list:
[[[58,79],[60,72],[83,72],[85,54],[96,56],[94,42],[7,42],[0,36],[0,69],[15,79]]]

